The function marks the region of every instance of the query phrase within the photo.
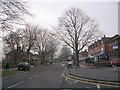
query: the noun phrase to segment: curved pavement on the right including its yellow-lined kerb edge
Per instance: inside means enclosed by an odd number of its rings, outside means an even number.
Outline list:
[[[81,64],[80,67],[66,68],[64,74],[72,79],[85,82],[120,86],[120,67],[99,67]]]

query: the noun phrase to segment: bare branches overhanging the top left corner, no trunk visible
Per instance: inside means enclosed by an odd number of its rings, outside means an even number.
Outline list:
[[[14,24],[24,24],[22,19],[24,14],[31,15],[25,2],[20,0],[1,0],[0,1],[0,29],[13,30]]]

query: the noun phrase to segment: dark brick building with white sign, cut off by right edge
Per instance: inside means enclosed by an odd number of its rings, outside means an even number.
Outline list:
[[[120,58],[120,35],[113,36],[109,41],[109,59]]]

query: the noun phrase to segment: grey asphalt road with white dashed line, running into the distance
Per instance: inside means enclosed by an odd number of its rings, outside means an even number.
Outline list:
[[[35,67],[25,73],[3,78],[2,88],[88,88],[89,90],[112,88],[99,84],[71,80],[67,77],[63,77],[63,71],[64,67],[61,63]]]

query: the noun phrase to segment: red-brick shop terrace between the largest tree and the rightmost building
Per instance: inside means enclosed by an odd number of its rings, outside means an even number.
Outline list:
[[[109,40],[111,37],[102,37],[88,47],[88,56],[94,57],[95,61],[108,59]]]

